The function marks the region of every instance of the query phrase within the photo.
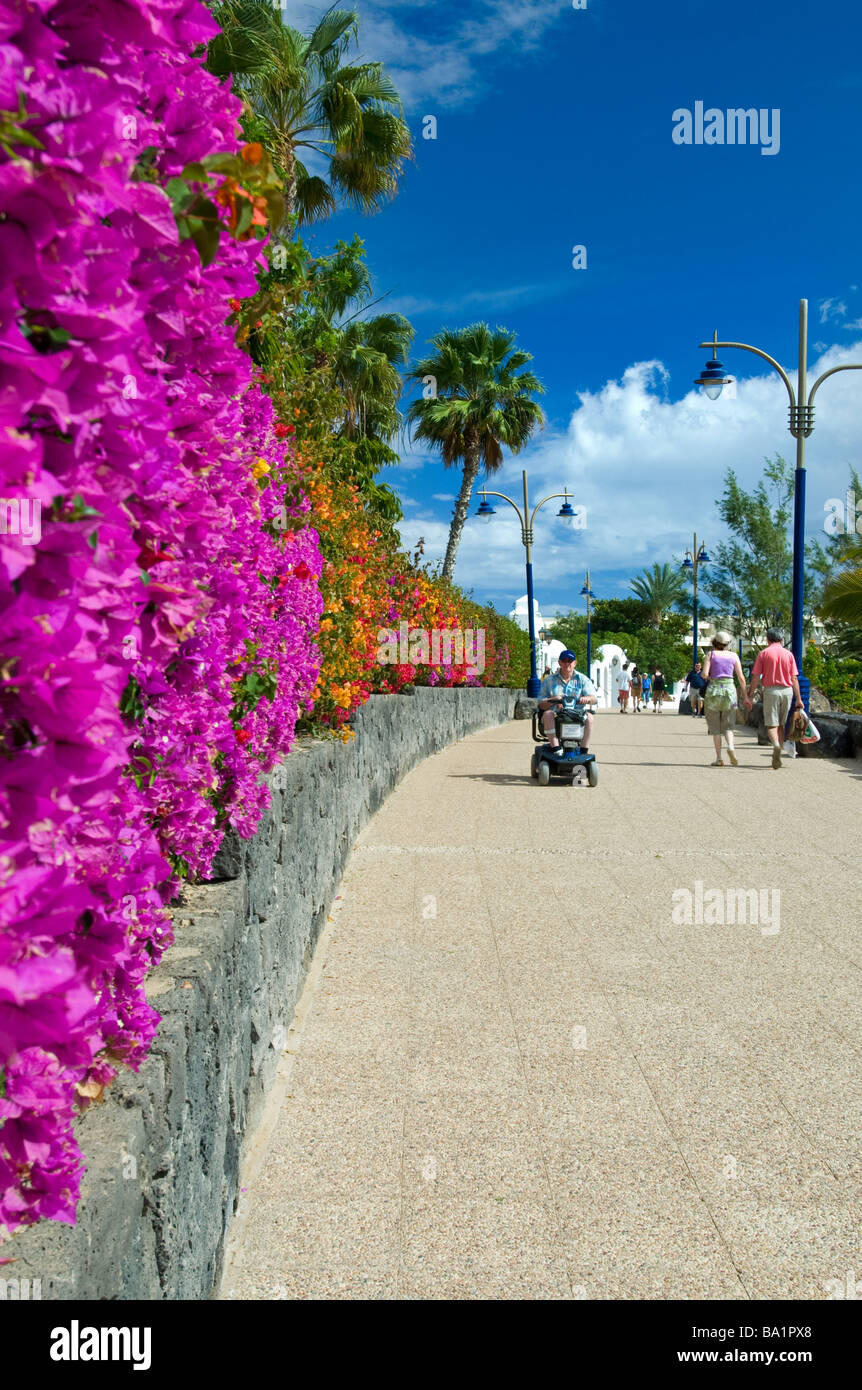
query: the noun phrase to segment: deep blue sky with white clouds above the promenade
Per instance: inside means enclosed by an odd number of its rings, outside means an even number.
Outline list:
[[[323,6],[288,3],[306,32]],[[765,456],[794,459],[787,398],[749,353],[724,353],[738,382],[694,391],[712,336],[797,366],[798,300],[809,300],[809,368],[862,361],[858,132],[862,17],[851,0],[357,0],[361,51],[402,92],[416,143],[399,196],[375,217],[343,213],[309,234],[318,250],[353,232],[377,293],[431,334],[487,320],[512,329],[546,385],[545,430],[491,484],[535,498],[567,485],[587,528],[545,509],[537,596],[581,607],[584,570],[624,596],[653,560],[681,559],[692,532],[723,534],[727,467],[751,485]],[[677,145],[673,113],[695,101],[777,110],[777,153],[759,143]],[[423,118],[437,117],[437,139]],[[761,132],[763,143],[767,131]],[[587,249],[574,270],[573,247]],[[808,532],[861,464],[862,373],[818,395],[808,445]],[[385,481],[403,500],[405,543],[442,555],[460,475],[405,448]],[[503,505],[505,506],[505,505]],[[474,507],[471,509],[474,510]],[[456,580],[506,610],[524,592],[514,514],[467,523]]]

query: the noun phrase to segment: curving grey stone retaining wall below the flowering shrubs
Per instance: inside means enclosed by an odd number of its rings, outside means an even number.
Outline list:
[[[177,944],[147,983],[163,1019],[146,1062],[78,1122],[88,1162],[78,1225],[43,1222],[3,1248],[15,1257],[3,1269],[7,1297],[25,1279],[42,1298],[210,1295],[242,1140],[356,835],[424,758],[512,719],[517,694],[374,695],[353,742],[299,744],[275,770],[257,834],[220,855],[224,881],[186,888],[175,909]]]

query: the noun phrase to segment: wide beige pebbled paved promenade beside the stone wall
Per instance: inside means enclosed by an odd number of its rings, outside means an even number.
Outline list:
[[[318,945],[222,1298],[862,1282],[862,770],[773,771],[748,730],[712,769],[704,724],[599,714],[595,790],[532,783],[520,721],[400,784]]]

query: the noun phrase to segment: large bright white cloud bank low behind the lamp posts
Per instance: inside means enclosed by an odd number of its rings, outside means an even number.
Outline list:
[[[830,348],[812,366],[809,382],[843,361],[862,361],[862,342]],[[583,531],[560,530],[556,503],[548,503],[537,517],[534,564],[542,606],[580,607],[585,569],[596,592],[602,574],[610,580],[616,571],[613,594],[619,596],[626,592],[620,571],[634,575],[653,560],[681,560],[694,531],[708,546],[715,545],[726,535],[716,506],[726,470],[733,467],[751,488],[765,457],[781,453],[795,461],[787,392],[776,374],[737,378],[735,399],[722,396],[717,402],[694,389],[681,400],[669,400],[666,382],[660,363],[634,363],[620,381],[578,396],[564,434],[539,435],[521,456],[507,457],[496,475],[494,486],[519,500],[526,467],[532,503],[569,486],[574,502],[587,507]],[[827,498],[843,495],[849,466],[862,467],[862,373],[830,377],[815,404],[816,428],[806,455],[809,534],[822,525]],[[428,557],[442,556],[448,518],[432,516],[428,503],[416,514],[409,512],[402,523],[406,539],[417,525]],[[470,517],[455,577],[480,596],[506,595],[512,602],[524,592],[517,517],[505,503],[488,525]]]

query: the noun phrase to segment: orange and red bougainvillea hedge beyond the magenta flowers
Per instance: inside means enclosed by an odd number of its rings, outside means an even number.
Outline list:
[[[303,723],[349,738],[350,719],[371,694],[407,685],[524,687],[527,634],[402,550],[384,514],[392,493],[363,464],[353,441],[336,432],[343,400],[328,381],[323,346],[320,357],[320,368],[304,374],[293,375],[293,363],[291,371],[279,368],[281,379],[259,377],[281,417],[275,435],[295,445],[298,485],[311,503],[306,520],[324,560],[321,666],[314,709]]]

